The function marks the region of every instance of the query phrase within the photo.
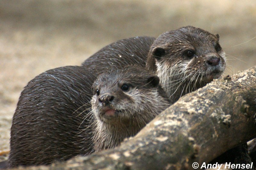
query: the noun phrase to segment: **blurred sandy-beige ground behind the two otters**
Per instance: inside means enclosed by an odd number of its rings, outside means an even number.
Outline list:
[[[229,74],[256,65],[255,0],[1,0],[0,151],[9,150],[20,92],[36,75],[81,65],[123,38],[187,25],[220,35]]]

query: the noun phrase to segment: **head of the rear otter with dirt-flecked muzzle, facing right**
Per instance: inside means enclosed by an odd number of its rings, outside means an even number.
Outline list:
[[[220,36],[187,26],[165,32],[150,48],[147,67],[156,72],[172,103],[220,77],[226,67]]]

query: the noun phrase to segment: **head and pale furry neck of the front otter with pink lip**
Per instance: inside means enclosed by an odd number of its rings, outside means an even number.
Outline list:
[[[157,114],[170,106],[159,78],[139,66],[101,74],[94,82],[92,113],[96,152],[114,148],[136,135]]]

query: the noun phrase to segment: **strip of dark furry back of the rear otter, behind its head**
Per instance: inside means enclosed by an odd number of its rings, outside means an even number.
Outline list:
[[[82,66],[90,69],[93,73],[97,73],[97,75],[131,64],[144,67],[147,62],[148,51],[154,40],[155,38],[147,36],[119,40],[93,54],[84,61]]]

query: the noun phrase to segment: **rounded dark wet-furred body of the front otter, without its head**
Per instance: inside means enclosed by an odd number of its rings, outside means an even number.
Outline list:
[[[93,151],[91,86],[80,66],[48,70],[28,82],[13,115],[8,166],[47,165]]]

